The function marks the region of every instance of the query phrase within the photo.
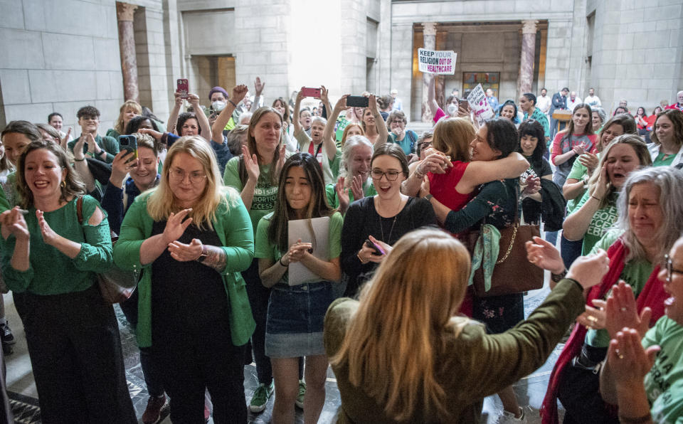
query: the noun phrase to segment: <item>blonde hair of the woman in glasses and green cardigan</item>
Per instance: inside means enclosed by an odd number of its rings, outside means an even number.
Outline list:
[[[206,174],[206,187],[198,203],[192,207],[189,216],[199,229],[209,228],[213,230],[211,222],[216,219],[218,206],[221,204],[224,204],[226,208],[233,206],[239,195],[234,189],[223,186],[219,179],[218,163],[211,147],[208,146],[206,140],[196,135],[181,137],[169,149],[164,161],[164,170],[162,171],[162,178],[159,180],[159,186],[150,190],[147,213],[154,221],[164,221],[169,218],[171,213],[183,209],[176,203],[175,196],[169,186],[171,164],[173,164],[174,157],[179,153],[189,154],[203,166],[203,171]]]

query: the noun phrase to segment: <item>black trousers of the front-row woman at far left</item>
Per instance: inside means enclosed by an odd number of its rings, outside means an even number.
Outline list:
[[[15,293],[43,423],[137,423],[119,327],[97,285],[83,292]]]

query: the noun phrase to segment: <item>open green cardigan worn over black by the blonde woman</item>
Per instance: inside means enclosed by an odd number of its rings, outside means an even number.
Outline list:
[[[126,212],[121,224],[119,240],[114,246],[114,261],[124,270],[144,270],[138,283],[137,343],[140,347],[152,346],[152,263],[140,264],[142,242],[152,235],[154,220],[147,213],[149,194],[142,194]],[[256,324],[251,314],[245,282],[240,274],[254,258],[254,235],[249,214],[240,196],[230,189],[226,194],[230,205],[221,203],[216,220],[211,224],[221,239],[228,257],[226,269],[221,271],[226,295],[230,302],[230,331],[235,346],[245,344]],[[190,287],[190,286],[188,286]]]

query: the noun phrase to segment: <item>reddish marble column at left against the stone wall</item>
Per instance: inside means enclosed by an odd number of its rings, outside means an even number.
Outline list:
[[[123,97],[125,100],[139,102],[137,86],[137,59],[135,58],[135,36],[133,14],[138,6],[116,2],[116,18],[119,21],[119,50],[121,52],[121,71],[123,73]]]

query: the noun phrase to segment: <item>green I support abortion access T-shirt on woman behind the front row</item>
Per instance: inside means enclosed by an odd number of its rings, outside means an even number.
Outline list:
[[[233,157],[226,164],[226,171],[223,173],[223,184],[232,187],[239,193],[242,192],[244,186],[240,180],[239,173],[240,157]],[[256,181],[256,189],[254,190],[254,197],[251,201],[251,208],[249,208],[249,216],[251,218],[251,225],[255,231],[258,226],[258,221],[275,210],[275,200],[277,199],[277,184],[270,183],[270,165],[259,165],[260,173],[258,181]]]

